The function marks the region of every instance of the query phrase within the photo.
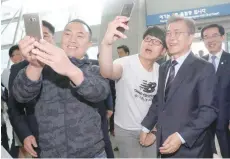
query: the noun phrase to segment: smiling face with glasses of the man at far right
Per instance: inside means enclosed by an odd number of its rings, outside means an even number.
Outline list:
[[[211,54],[221,51],[224,35],[222,36],[217,27],[208,28],[203,33],[205,47]]]

